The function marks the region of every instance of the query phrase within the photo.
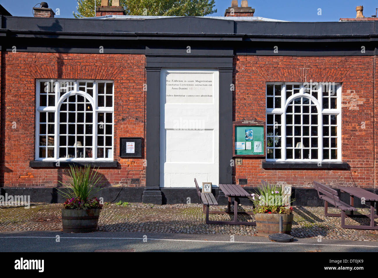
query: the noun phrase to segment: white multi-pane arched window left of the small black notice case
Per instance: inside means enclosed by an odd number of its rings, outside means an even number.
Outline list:
[[[36,160],[112,160],[113,95],[110,81],[37,81]]]

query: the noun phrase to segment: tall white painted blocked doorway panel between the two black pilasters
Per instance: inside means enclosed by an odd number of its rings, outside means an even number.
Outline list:
[[[194,187],[194,178],[199,186],[218,185],[218,76],[217,70],[161,71],[160,186]]]

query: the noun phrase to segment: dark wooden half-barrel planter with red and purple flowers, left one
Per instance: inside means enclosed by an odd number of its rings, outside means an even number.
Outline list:
[[[88,233],[97,230],[100,208],[66,210],[62,208],[62,225],[66,233]]]

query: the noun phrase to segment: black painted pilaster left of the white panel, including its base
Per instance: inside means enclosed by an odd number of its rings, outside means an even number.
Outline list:
[[[160,178],[160,67],[146,67],[146,188],[143,203],[161,205]],[[157,139],[156,139],[157,138]]]

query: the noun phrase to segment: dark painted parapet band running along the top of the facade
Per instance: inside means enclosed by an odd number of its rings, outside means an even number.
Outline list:
[[[55,31],[96,34],[185,34],[248,36],[369,36],[376,35],[376,22],[257,22],[198,17],[171,17],[144,20],[58,19],[2,17],[2,28],[13,31]],[[174,25],[174,26],[172,26]]]

